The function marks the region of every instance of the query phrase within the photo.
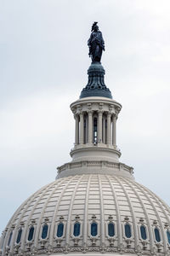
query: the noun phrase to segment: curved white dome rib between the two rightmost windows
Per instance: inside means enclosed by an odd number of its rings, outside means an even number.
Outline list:
[[[160,229],[161,229],[161,238],[162,238],[162,243],[163,243],[163,247],[164,247],[164,252],[166,252],[166,251],[167,251],[167,247],[166,247],[165,242],[163,242],[163,241],[166,241],[166,237],[165,237],[164,229],[163,229],[163,226],[162,226],[162,223],[161,223],[161,218],[159,217],[159,215],[158,215],[158,213],[157,213],[157,210],[156,210],[156,207],[155,207],[154,203],[150,200],[150,196],[147,194],[147,192],[149,192],[149,194],[150,194],[150,190],[148,189],[149,191],[147,191],[147,189],[146,189],[144,186],[142,186],[142,185],[139,186],[138,183],[136,183],[136,186],[138,187],[138,189],[139,189],[140,191],[142,191],[142,193],[146,196],[146,198],[148,199],[148,201],[150,201],[150,205],[153,207],[154,212],[156,212],[156,217],[157,217],[157,220],[158,220],[158,222],[159,222],[159,227],[160,227]],[[152,198],[152,199],[153,199],[153,198]],[[151,224],[150,224],[149,227],[150,227],[150,229],[151,229]]]

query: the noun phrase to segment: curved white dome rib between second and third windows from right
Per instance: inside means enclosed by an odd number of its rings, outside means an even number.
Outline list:
[[[146,218],[148,233],[149,233],[149,237],[150,237],[150,250],[152,250],[152,249],[153,249],[154,241],[153,241],[152,232],[151,232],[151,230],[150,230],[150,218],[149,218],[149,215],[148,215],[148,213],[147,213],[147,211],[146,211],[146,209],[145,209],[145,206],[144,206],[143,201],[141,200],[141,198],[140,198],[139,194],[136,192],[136,190],[133,188],[133,186],[136,187],[136,188],[138,188],[138,187],[136,186],[136,183],[133,183],[133,185],[132,185],[132,183],[130,183],[127,179],[125,179],[125,178],[122,178],[122,179],[123,179],[125,182],[127,182],[127,184],[129,185],[129,187],[130,187],[131,189],[133,189],[134,194],[135,194],[135,195],[137,196],[137,198],[139,199],[139,202],[140,202],[140,204],[141,204],[141,206],[142,206],[142,208],[143,208],[143,210],[144,210],[144,215],[145,215],[145,218]],[[139,189],[139,188],[138,188],[138,189]]]

